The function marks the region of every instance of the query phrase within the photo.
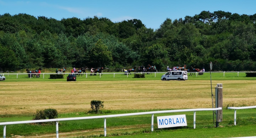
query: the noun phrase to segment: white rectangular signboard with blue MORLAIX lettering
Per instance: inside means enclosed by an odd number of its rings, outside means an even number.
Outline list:
[[[158,128],[187,126],[186,114],[157,117]]]

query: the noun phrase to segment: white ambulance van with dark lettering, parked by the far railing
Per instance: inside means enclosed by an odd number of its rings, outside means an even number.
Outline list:
[[[162,75],[161,80],[187,80],[187,71],[169,71]]]

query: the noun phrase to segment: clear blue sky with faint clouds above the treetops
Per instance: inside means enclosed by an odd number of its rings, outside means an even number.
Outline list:
[[[0,0],[0,14],[26,13],[37,16],[62,18],[107,17],[113,22],[140,19],[147,28],[157,29],[166,18],[179,19],[199,14],[203,10],[217,10],[253,15],[254,0]]]

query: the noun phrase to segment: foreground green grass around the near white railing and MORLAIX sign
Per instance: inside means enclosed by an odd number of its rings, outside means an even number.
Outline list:
[[[167,110],[167,109],[166,109]],[[168,109],[169,110],[169,109]],[[144,112],[153,110],[120,110],[120,111],[106,111],[108,113],[97,114],[98,115],[108,115],[108,114],[121,114],[121,113],[133,113],[133,112]],[[155,111],[155,110],[154,110]],[[256,134],[252,128],[256,126],[255,118],[256,109],[243,109],[237,111],[237,126],[233,126],[234,110],[223,110],[223,122],[220,122],[220,128],[213,127],[212,111],[197,111],[196,112],[196,129],[193,129],[193,112],[178,112],[178,113],[159,113],[154,114],[154,132],[150,131],[151,128],[151,114],[140,115],[140,116],[126,116],[126,117],[116,117],[107,118],[107,134],[109,136],[114,135],[124,135],[122,137],[127,137],[127,135],[132,135],[132,137],[229,137],[229,136],[253,136]],[[85,117],[85,116],[95,116],[95,114],[86,114],[84,112],[78,113],[64,113],[60,114],[59,118],[69,118],[69,117]],[[157,129],[157,116],[169,116],[186,114],[187,127],[178,127],[176,129]],[[10,116],[0,116],[0,122],[9,121],[24,121],[31,120],[32,115],[10,115]],[[132,130],[136,128],[137,125],[144,126],[137,130]],[[109,132],[108,129],[112,128],[125,128],[121,132]],[[146,127],[145,127],[146,126]],[[183,129],[180,129],[183,128]],[[54,124],[38,125],[38,124],[15,124],[6,126],[6,134],[8,137],[13,135],[43,135],[49,133],[55,133],[56,126]],[[82,130],[104,130],[103,129],[103,118],[102,119],[87,119],[87,120],[73,120],[73,121],[60,121],[59,122],[59,133],[72,132],[72,131],[82,131]],[[3,126],[0,126],[0,130],[3,130]],[[238,131],[237,133],[235,133]],[[253,133],[249,133],[252,132]],[[147,132],[147,133],[144,133]],[[219,132],[219,133],[218,133]],[[243,133],[242,133],[243,132]],[[104,133],[104,132],[103,132]],[[134,135],[139,134],[139,135]],[[160,135],[159,135],[160,134]],[[0,135],[3,132],[0,131]],[[158,136],[159,135],[159,136]]]

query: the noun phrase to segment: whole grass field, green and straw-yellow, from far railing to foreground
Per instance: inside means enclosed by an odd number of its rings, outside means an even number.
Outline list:
[[[77,77],[77,82],[66,82],[66,79],[48,79],[49,75],[42,74],[40,78],[28,78],[27,75],[5,74],[6,80],[0,81],[0,122],[31,120],[37,109],[54,108],[61,114],[60,118],[94,116],[86,114],[90,109],[91,100],[104,101],[105,114],[130,113],[141,111],[155,111],[166,109],[211,108],[210,74],[189,76],[186,81],[161,81],[161,75],[157,73],[146,78],[128,78],[123,74],[103,74],[101,78],[89,76]],[[212,88],[217,83],[223,84],[223,105],[252,106],[256,105],[255,85],[256,78],[245,77],[245,73],[212,73]],[[239,112],[239,111],[238,111]],[[125,118],[108,119],[107,133],[111,135],[132,135],[132,137],[210,137],[214,131],[222,133],[219,137],[239,136],[235,133],[238,126],[232,126],[233,110],[224,110],[222,122],[223,128],[212,128],[212,112],[197,113],[197,129],[193,128],[193,112],[186,112],[187,129],[156,129],[150,132],[150,117],[135,116]],[[77,115],[76,115],[77,114]],[[104,115],[105,115],[104,114]],[[173,113],[174,115],[175,113]],[[181,113],[178,113],[181,114]],[[170,114],[158,114],[164,116]],[[225,116],[225,118],[224,118]],[[244,110],[241,120],[255,117],[255,110]],[[155,116],[156,117],[156,116]],[[199,119],[201,118],[201,119]],[[125,121],[124,121],[125,120]],[[252,119],[255,121],[255,119]],[[156,119],[155,119],[156,121]],[[231,121],[231,122],[230,122]],[[240,122],[242,136],[253,136],[250,125],[255,128],[253,121]],[[146,123],[145,123],[146,122]],[[157,124],[155,122],[155,124]],[[239,125],[239,124],[238,124]],[[74,127],[76,126],[76,127]],[[0,130],[2,126],[0,126]],[[59,132],[62,137],[90,136],[103,134],[103,120],[67,121],[60,124]],[[29,128],[27,131],[21,128]],[[33,131],[29,131],[33,130]],[[230,130],[230,131],[229,131]],[[148,133],[142,133],[148,132]],[[239,131],[238,131],[239,132]],[[55,125],[7,125],[7,136],[25,135],[34,137],[54,137]],[[191,135],[190,135],[191,133]],[[138,134],[138,135],[133,135]],[[194,136],[193,136],[194,134]],[[233,135],[232,135],[233,134]],[[0,131],[0,136],[3,133]],[[166,136],[165,136],[166,135]],[[215,135],[215,137],[218,137]]]

